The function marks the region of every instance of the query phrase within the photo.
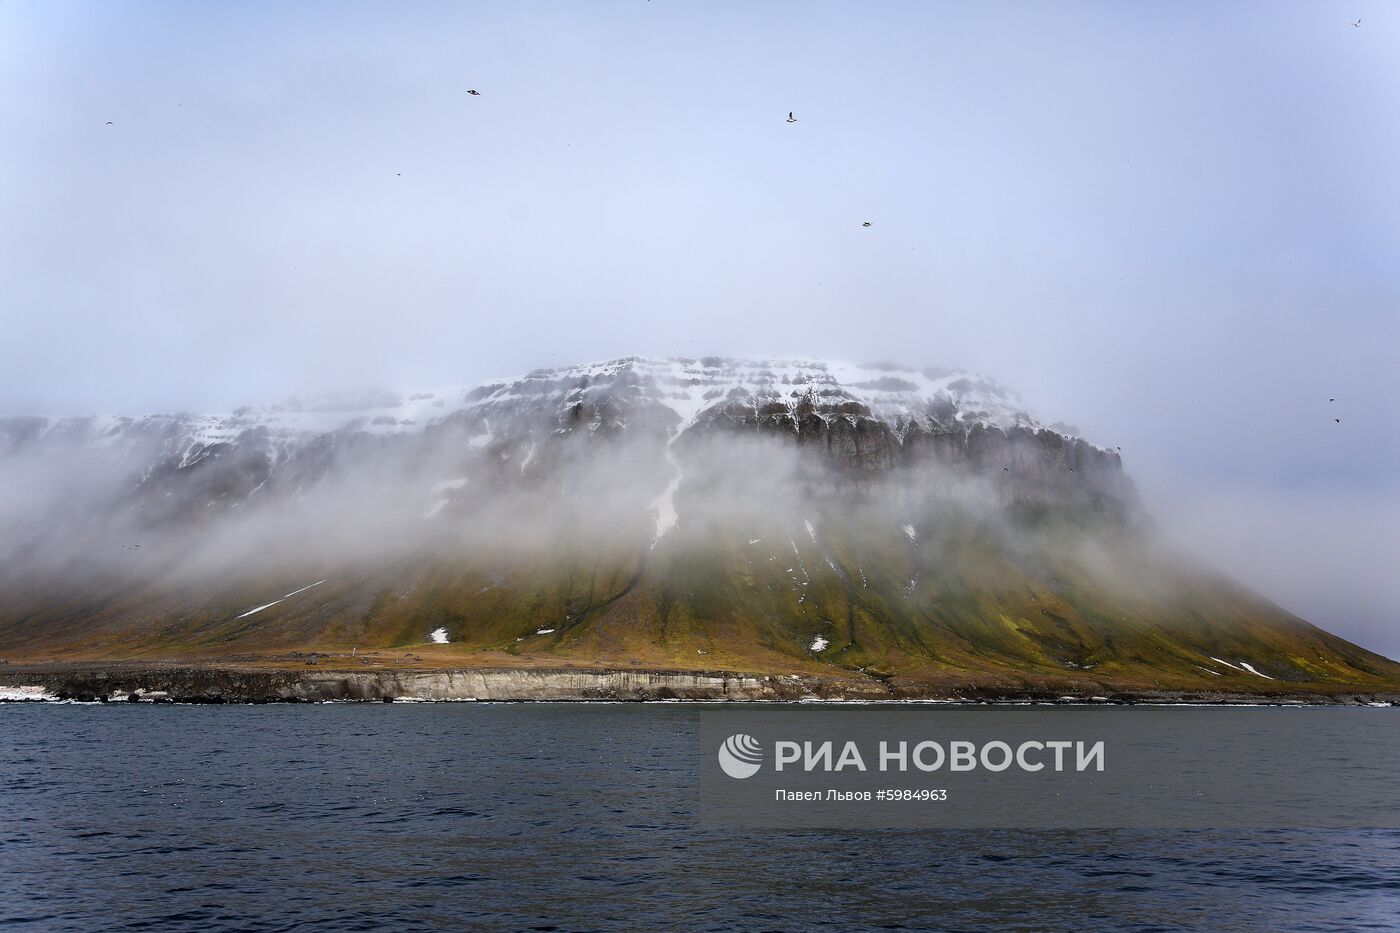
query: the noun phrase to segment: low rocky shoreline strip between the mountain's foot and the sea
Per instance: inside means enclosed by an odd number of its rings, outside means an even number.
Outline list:
[[[1096,702],[1096,703],[1326,703],[1400,706],[1400,693],[1275,691],[1123,691],[886,682],[874,678],[727,671],[577,668],[452,668],[295,671],[238,667],[11,667],[0,671],[0,700],[297,703],[297,702]]]

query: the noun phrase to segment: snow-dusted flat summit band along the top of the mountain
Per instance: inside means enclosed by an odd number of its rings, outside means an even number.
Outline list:
[[[116,444],[127,437],[143,437],[168,441],[167,445],[179,450],[182,464],[188,466],[203,448],[237,441],[255,430],[265,430],[277,440],[336,431],[402,434],[423,431],[463,413],[515,415],[522,408],[563,410],[605,399],[664,408],[675,415],[676,433],[690,427],[704,412],[735,399],[790,408],[802,399],[812,399],[820,403],[816,409],[819,415],[843,405],[864,406],[872,416],[892,424],[942,419],[965,427],[1046,427],[1022,410],[1008,389],[972,373],[815,359],[623,357],[533,370],[475,387],[288,399],[223,415],[0,417],[0,443],[4,444],[0,451],[35,440]],[[482,447],[490,440],[491,434],[483,431],[473,438],[473,445]]]

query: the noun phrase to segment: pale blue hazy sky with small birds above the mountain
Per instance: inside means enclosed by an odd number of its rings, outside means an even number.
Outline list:
[[[1397,99],[1375,1],[0,0],[0,413],[966,367],[1400,657]]]

